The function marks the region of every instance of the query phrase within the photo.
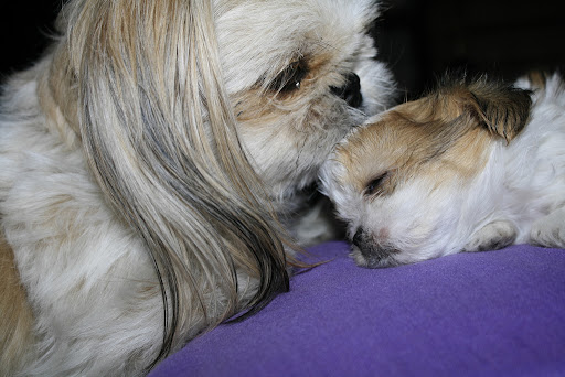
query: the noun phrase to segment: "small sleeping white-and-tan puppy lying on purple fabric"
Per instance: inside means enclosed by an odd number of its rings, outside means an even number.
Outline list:
[[[565,84],[451,79],[353,130],[323,191],[369,268],[514,243],[565,247]]]

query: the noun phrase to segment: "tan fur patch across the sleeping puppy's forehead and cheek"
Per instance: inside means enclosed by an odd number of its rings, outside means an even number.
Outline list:
[[[399,105],[361,129],[337,155],[348,166],[343,184],[363,192],[386,174],[374,195],[387,195],[416,175],[435,185],[477,175],[487,163],[491,141],[457,101],[423,98]]]

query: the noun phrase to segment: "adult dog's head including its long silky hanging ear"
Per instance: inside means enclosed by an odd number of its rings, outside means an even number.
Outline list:
[[[273,204],[390,100],[367,35],[376,15],[372,0],[64,8],[40,99],[147,243],[168,310],[163,354],[183,342],[180,326],[195,334],[288,289]]]

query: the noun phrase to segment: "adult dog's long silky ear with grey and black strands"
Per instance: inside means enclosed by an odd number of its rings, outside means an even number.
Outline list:
[[[85,155],[107,202],[146,241],[161,284],[154,364],[184,342],[181,326],[253,314],[288,290],[282,231],[239,143],[211,2],[72,4],[64,49]],[[257,279],[249,301],[239,301],[239,271]]]

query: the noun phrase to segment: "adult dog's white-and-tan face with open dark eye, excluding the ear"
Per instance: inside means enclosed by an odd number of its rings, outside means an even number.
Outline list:
[[[311,183],[332,146],[392,98],[374,1],[216,1],[226,90],[274,197]]]

